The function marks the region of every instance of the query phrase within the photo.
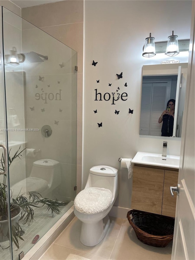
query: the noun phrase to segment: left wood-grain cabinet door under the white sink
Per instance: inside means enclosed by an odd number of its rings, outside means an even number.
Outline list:
[[[161,214],[164,172],[164,169],[133,167],[132,209]]]

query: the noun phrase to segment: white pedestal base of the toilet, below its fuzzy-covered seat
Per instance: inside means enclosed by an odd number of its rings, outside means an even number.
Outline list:
[[[97,223],[84,223],[82,222],[80,241],[85,246],[95,246],[105,237],[110,219],[108,215]]]

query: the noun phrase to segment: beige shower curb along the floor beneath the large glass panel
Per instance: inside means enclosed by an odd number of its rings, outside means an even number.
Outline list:
[[[75,217],[74,206],[55,223],[54,226],[31,248],[22,258],[23,260],[37,260],[51,246],[55,239],[62,233],[68,224]]]

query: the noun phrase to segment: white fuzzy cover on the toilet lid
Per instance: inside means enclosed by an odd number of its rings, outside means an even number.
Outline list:
[[[96,214],[107,209],[111,205],[112,198],[110,190],[90,187],[77,194],[74,207],[83,214]]]

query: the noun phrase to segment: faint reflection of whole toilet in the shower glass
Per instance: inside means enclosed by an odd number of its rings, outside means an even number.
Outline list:
[[[37,191],[41,197],[47,195],[61,183],[60,163],[52,159],[42,159],[33,162],[30,176],[11,187],[12,198],[28,191]]]

